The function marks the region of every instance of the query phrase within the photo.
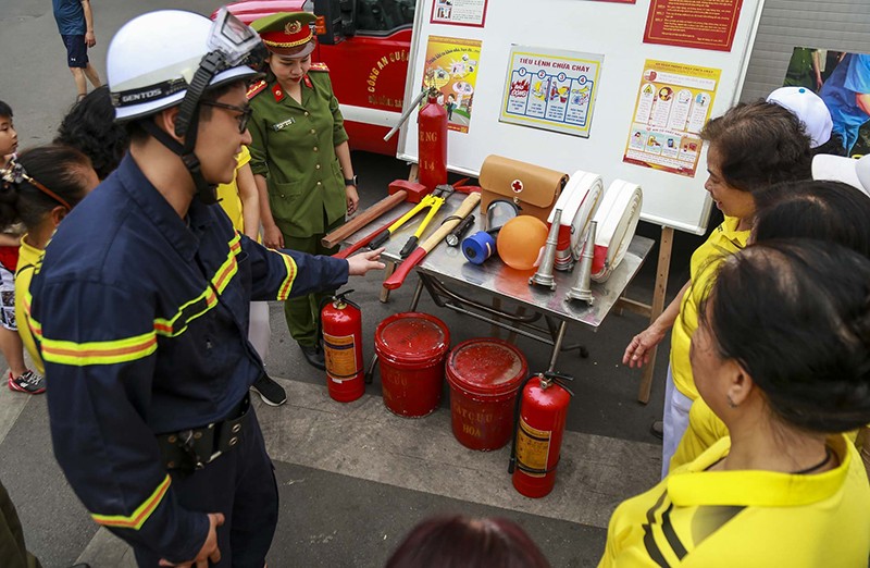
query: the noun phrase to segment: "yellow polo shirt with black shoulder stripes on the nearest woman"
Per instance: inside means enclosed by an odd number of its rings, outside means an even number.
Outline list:
[[[831,436],[831,471],[706,471],[731,439],[623,502],[599,567],[863,567],[870,557],[870,484],[855,446]]]

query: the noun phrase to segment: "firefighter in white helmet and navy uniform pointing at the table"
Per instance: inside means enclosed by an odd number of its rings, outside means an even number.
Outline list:
[[[66,218],[30,287],[55,457],[140,566],[264,565],[277,490],[248,400],[263,372],[249,302],[383,266],[266,249],[213,206],[250,144],[259,46],[225,11],[119,30],[107,67],[129,153]]]

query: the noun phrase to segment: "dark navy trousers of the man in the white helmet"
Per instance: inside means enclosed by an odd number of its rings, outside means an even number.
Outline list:
[[[221,561],[209,566],[262,568],[278,521],[278,490],[272,460],[265,453],[263,433],[253,408],[244,422],[239,447],[189,476],[172,473],[178,504],[202,513],[223,513],[217,527]],[[160,557],[135,547],[136,561],[156,567]]]

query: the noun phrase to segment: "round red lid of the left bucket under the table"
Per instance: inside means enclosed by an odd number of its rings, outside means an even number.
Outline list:
[[[450,348],[447,325],[428,313],[394,313],[377,324],[375,347],[381,354],[402,361],[425,361],[442,357]]]

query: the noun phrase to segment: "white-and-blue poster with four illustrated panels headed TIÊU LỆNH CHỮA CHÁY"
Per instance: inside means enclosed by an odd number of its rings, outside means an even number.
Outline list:
[[[604,55],[511,46],[499,121],[589,137]]]

